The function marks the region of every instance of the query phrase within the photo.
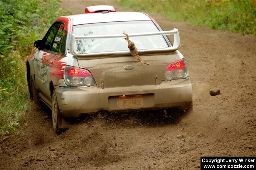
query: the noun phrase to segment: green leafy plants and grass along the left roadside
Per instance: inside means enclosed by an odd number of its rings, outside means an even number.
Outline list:
[[[20,127],[30,109],[26,58],[54,20],[69,14],[55,0],[0,0],[0,136]]]

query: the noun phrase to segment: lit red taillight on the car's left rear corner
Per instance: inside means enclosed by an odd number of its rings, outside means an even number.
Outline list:
[[[69,86],[92,86],[96,85],[88,70],[66,66],[64,70],[64,81]]]

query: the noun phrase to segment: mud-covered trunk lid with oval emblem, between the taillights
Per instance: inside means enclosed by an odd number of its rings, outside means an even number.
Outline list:
[[[79,67],[92,73],[98,87],[103,80],[104,87],[123,87],[136,85],[160,84],[167,66],[176,61],[176,54],[143,56],[142,59],[150,65],[141,63],[132,56],[102,58],[94,60],[78,60]],[[124,67],[133,66],[132,70]]]

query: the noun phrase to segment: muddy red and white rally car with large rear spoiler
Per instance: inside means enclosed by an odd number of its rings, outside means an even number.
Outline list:
[[[124,32],[149,65],[132,57]],[[59,17],[34,46],[27,59],[30,98],[52,109],[55,131],[64,118],[101,110],[192,108],[179,31],[163,31],[148,14],[87,7],[85,14]]]

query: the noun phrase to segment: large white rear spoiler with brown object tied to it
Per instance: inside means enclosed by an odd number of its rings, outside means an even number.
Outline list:
[[[173,46],[169,48],[163,49],[149,49],[149,50],[138,50],[139,55],[152,55],[152,54],[169,54],[180,48],[180,35],[178,29],[174,28],[171,31],[158,31],[158,32],[145,32],[145,33],[133,33],[128,34],[130,37],[138,37],[138,36],[155,36],[155,35],[171,35],[174,36]],[[98,52],[98,53],[84,53],[79,54],[75,51],[75,40],[76,39],[102,39],[102,38],[126,38],[123,34],[111,34],[111,35],[90,35],[90,36],[75,36],[71,35],[71,44],[70,44],[70,52],[72,55],[76,57],[110,57],[110,56],[129,56],[130,50],[127,47],[127,51],[109,51],[109,52]]]

